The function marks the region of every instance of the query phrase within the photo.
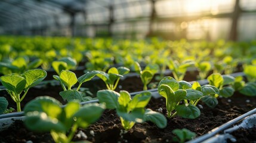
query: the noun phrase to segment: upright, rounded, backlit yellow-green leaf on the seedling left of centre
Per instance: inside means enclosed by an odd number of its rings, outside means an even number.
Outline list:
[[[61,71],[60,80],[67,86],[68,89],[71,89],[71,87],[78,82],[76,74],[68,70]]]

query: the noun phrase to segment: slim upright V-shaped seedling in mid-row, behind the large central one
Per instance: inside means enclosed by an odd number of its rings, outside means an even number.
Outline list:
[[[152,80],[155,73],[158,72],[158,64],[148,64],[144,70],[141,70],[140,64],[136,61],[134,64],[134,70],[140,75],[140,79],[143,83],[143,90],[147,90],[147,85]]]

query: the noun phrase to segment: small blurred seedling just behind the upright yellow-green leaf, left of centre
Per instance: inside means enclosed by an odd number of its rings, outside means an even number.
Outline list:
[[[70,57],[61,58],[60,60],[53,61],[52,63],[53,69],[58,75],[60,75],[62,70],[75,69],[76,65],[76,60]]]

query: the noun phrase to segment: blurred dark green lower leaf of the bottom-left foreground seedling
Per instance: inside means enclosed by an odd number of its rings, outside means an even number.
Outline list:
[[[66,132],[66,127],[58,119],[49,117],[44,112],[30,111],[26,113],[24,120],[26,127],[30,130],[48,132],[55,130],[57,132]]]

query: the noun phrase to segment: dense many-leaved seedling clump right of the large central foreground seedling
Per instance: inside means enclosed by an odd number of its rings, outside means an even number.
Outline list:
[[[218,93],[218,89],[211,85],[201,86],[198,82],[190,83],[186,81],[177,82],[172,77],[164,77],[158,85],[159,94],[166,100],[166,110],[168,117],[176,114],[187,119],[196,119],[201,112],[196,105],[202,97],[209,94]],[[181,104],[183,101],[184,104]],[[172,114],[172,111],[175,113]]]

